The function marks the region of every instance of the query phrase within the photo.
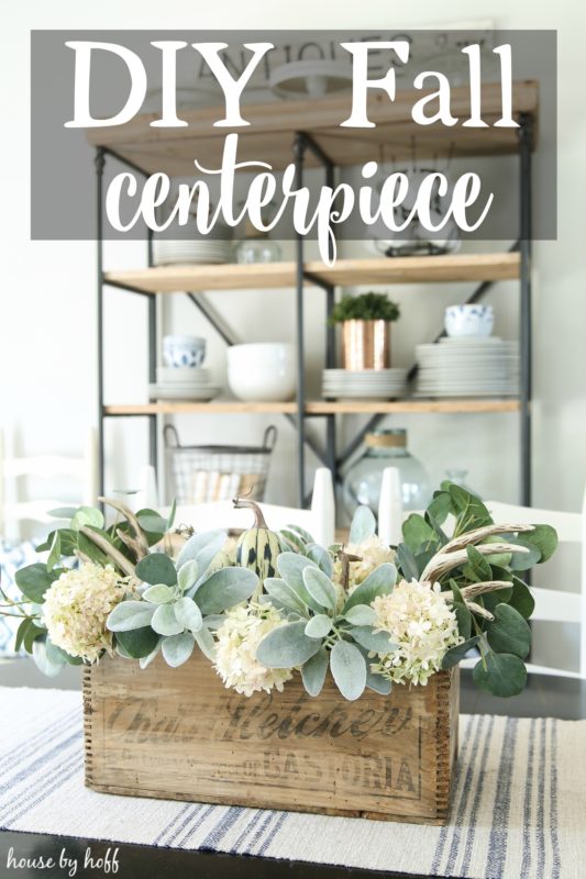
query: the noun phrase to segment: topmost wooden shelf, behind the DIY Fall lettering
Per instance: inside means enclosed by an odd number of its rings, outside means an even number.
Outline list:
[[[439,123],[418,125],[411,118],[421,91],[406,90],[390,101],[386,94],[373,92],[368,99],[368,116],[373,129],[341,127],[350,115],[351,93],[318,100],[274,100],[264,104],[243,107],[243,115],[251,123],[239,132],[239,162],[263,160],[280,169],[292,159],[291,133],[310,134],[334,165],[349,167],[376,158],[379,146],[395,162],[411,159],[412,140],[417,141],[418,158],[446,155],[453,144],[456,156],[511,155],[519,149],[516,129],[494,127],[501,115],[499,84],[482,87],[483,119],[487,129],[463,127],[469,115],[469,88],[461,86],[451,90],[450,105],[458,122],[450,129]],[[512,114],[530,115],[537,122],[539,87],[534,81],[512,84]],[[175,129],[152,127],[157,114],[136,116],[125,125],[89,129],[88,140],[95,146],[112,149],[122,158],[143,168],[148,174],[165,171],[170,176],[194,176],[194,160],[207,168],[217,168],[221,162],[222,143],[231,131],[214,127],[223,118],[224,108],[181,110],[187,126]],[[533,131],[537,131],[537,124]],[[317,165],[308,152],[307,164]]]

